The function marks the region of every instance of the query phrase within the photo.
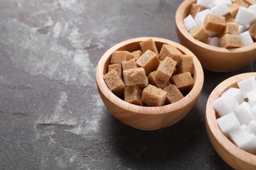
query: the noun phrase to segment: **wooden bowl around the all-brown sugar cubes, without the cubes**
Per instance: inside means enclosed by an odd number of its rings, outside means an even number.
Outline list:
[[[108,86],[106,86],[103,79],[103,75],[108,71],[108,64],[110,63],[110,57],[113,52],[116,50],[127,50],[129,52],[140,50],[139,42],[150,38],[156,42],[156,46],[159,51],[163,44],[172,44],[183,54],[193,56],[194,87],[183,99],[170,105],[164,105],[161,107],[144,107],[127,103],[114,95],[114,93],[108,89]],[[100,58],[96,68],[96,84],[102,101],[108,110],[110,110],[112,115],[118,120],[137,129],[154,130],[171,126],[188,114],[201,93],[203,86],[203,69],[196,56],[181,44],[156,37],[140,37],[116,44],[110,48],[102,58]]]

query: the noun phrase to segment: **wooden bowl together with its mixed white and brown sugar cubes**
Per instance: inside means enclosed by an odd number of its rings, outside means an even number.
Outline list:
[[[185,0],[175,22],[204,69],[230,72],[256,59],[256,0]]]

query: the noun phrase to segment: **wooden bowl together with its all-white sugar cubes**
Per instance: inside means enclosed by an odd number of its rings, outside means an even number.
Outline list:
[[[232,76],[207,101],[206,128],[213,147],[234,169],[256,169],[256,73]]]

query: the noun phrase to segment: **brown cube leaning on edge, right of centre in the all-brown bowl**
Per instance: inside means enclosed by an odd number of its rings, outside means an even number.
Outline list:
[[[177,62],[171,58],[163,59],[156,70],[156,77],[163,82],[167,82],[173,74],[176,64]]]

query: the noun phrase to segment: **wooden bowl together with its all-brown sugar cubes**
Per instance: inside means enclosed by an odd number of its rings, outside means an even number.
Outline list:
[[[112,46],[98,61],[96,84],[110,113],[136,129],[179,122],[203,86],[200,61],[177,42],[139,37]]]

